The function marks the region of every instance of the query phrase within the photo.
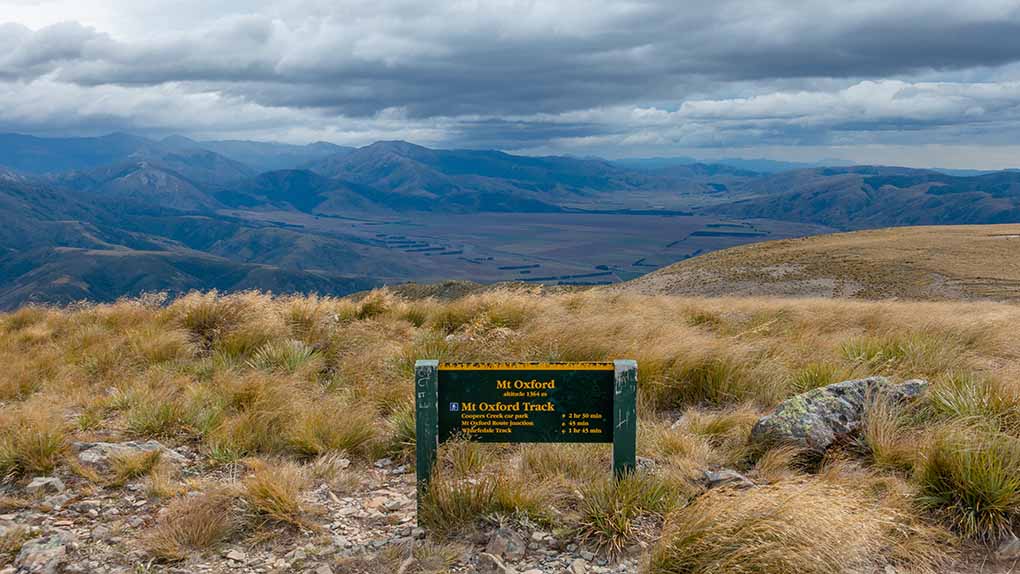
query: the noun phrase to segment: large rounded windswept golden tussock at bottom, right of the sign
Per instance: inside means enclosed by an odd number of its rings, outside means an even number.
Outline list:
[[[655,574],[838,574],[876,564],[883,519],[837,487],[713,490],[671,515]]]

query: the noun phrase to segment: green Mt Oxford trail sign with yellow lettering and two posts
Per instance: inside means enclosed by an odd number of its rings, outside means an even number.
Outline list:
[[[419,497],[440,442],[452,436],[481,442],[612,442],[613,472],[634,468],[634,361],[418,361],[414,386]]]

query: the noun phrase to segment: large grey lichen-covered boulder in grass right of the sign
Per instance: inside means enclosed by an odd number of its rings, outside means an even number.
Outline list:
[[[751,439],[757,445],[793,445],[821,455],[861,429],[872,398],[904,402],[919,397],[927,386],[923,380],[891,384],[885,377],[873,376],[815,388],[783,401],[759,419]]]

